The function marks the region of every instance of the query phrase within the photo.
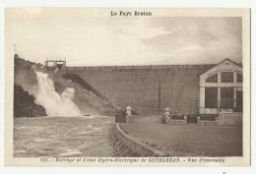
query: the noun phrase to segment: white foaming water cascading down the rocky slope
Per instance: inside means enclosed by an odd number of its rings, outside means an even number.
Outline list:
[[[36,72],[38,93],[35,102],[42,105],[48,116],[76,117],[82,116],[78,106],[72,101],[75,89],[67,87],[59,94],[55,91],[54,84],[47,74]]]

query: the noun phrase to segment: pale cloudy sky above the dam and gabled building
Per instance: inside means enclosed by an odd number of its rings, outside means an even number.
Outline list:
[[[242,59],[241,18],[90,17],[22,11],[6,18],[9,44],[34,62],[67,66],[219,63]]]

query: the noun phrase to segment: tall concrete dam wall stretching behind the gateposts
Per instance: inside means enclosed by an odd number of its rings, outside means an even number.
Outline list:
[[[139,113],[180,113],[199,109],[198,75],[214,65],[67,67],[116,106]]]

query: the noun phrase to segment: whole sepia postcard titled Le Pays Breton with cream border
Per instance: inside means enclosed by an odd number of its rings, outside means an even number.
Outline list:
[[[250,165],[250,10],[5,9],[5,165]]]

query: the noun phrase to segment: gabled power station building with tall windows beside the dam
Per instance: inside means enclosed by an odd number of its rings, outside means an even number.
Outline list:
[[[242,112],[242,67],[224,59],[216,66],[199,75],[200,114]]]

